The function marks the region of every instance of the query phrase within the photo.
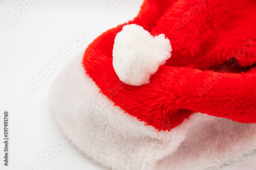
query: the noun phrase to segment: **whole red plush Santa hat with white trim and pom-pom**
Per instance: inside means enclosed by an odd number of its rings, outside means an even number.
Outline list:
[[[112,169],[219,169],[256,149],[256,2],[145,0],[50,90],[63,132]]]

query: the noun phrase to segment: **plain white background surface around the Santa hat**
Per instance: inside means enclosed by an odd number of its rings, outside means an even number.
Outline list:
[[[26,0],[22,0],[26,1]],[[114,0],[115,1],[115,0]],[[58,72],[76,53],[104,31],[134,18],[142,0],[123,0],[112,8],[109,0],[37,0],[13,22],[13,10],[19,1],[0,0],[0,128],[3,139],[3,111],[10,112],[9,166],[3,166],[3,142],[0,140],[0,169],[106,169],[81,154],[72,144],[58,150],[49,162],[39,160],[62,140],[63,134],[51,114],[48,90]],[[75,35],[87,37],[65,60],[57,54],[73,42]],[[27,83],[52,61],[58,67],[32,93]],[[45,163],[45,164],[44,164]],[[256,154],[223,170],[256,169]]]

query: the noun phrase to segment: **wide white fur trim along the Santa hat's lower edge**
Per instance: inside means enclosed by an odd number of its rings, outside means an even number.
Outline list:
[[[50,104],[79,150],[112,169],[219,169],[256,149],[256,125],[196,113],[157,132],[99,93],[77,56],[53,82]]]

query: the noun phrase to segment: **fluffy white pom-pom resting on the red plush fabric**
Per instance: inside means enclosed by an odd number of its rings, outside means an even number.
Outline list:
[[[153,37],[138,25],[126,25],[115,38],[113,66],[119,79],[129,85],[150,83],[160,65],[170,58],[172,46],[164,34]]]

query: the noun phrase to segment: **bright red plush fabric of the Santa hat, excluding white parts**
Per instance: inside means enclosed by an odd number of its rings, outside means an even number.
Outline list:
[[[173,47],[151,82],[130,86],[115,73],[112,50],[123,25],[95,39],[83,64],[115,105],[158,130],[170,130],[194,112],[256,123],[255,20],[255,1],[146,0],[125,24],[163,33]]]

